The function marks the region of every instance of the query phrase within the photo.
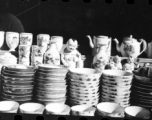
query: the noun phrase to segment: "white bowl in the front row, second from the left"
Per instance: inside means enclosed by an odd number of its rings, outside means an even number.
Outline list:
[[[25,114],[43,114],[45,109],[44,105],[39,103],[24,103],[19,107],[20,113]]]

